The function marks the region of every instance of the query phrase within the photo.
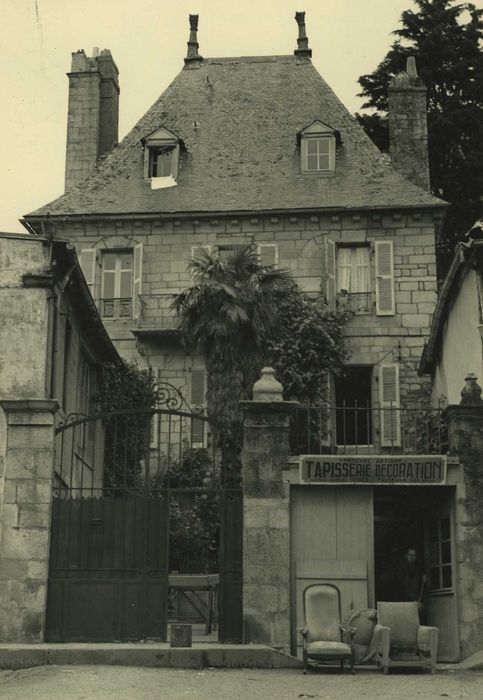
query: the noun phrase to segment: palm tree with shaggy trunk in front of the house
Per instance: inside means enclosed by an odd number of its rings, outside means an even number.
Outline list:
[[[288,270],[263,266],[253,245],[227,257],[200,249],[189,269],[193,285],[174,302],[179,328],[185,345],[205,362],[215,440],[225,458],[238,461],[239,401],[250,398],[265,359],[263,347],[278,323],[277,299],[293,282]]]

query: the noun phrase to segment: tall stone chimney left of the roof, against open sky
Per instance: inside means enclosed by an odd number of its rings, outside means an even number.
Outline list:
[[[72,54],[69,77],[69,111],[65,190],[93,171],[99,156],[117,143],[119,122],[118,70],[108,49],[91,57],[81,49]]]

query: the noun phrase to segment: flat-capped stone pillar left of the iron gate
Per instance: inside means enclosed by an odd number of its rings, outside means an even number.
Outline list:
[[[43,642],[55,400],[0,401],[0,641]],[[3,487],[3,488],[2,488]]]

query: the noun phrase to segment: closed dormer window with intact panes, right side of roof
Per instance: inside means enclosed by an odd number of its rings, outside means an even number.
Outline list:
[[[335,171],[336,141],[340,135],[332,127],[316,120],[298,134],[301,171],[313,175],[330,175]]]

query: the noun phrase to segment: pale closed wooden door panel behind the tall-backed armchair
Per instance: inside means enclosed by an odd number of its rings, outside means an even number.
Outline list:
[[[303,591],[331,583],[341,594],[342,620],[374,605],[372,488],[292,487],[292,629],[303,626]]]

